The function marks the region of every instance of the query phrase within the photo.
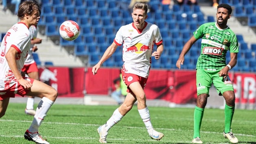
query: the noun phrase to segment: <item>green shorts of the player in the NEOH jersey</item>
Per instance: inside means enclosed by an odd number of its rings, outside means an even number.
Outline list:
[[[209,94],[210,87],[213,86],[216,88],[217,93],[222,95],[225,91],[234,91],[232,81],[229,76],[223,78],[219,76],[219,70],[215,69],[197,69],[196,70],[196,86],[197,86],[197,95],[202,93]]]

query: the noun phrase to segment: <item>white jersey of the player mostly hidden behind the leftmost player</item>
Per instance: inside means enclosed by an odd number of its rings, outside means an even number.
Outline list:
[[[29,31],[30,31],[30,34],[31,34],[31,40],[34,40],[37,38],[37,33],[38,33],[38,30],[37,30],[37,27],[35,25],[31,25],[29,27]],[[27,56],[27,59],[25,61],[25,64],[24,65],[29,65],[29,64],[33,64],[35,62],[34,58],[33,58],[33,51],[32,51],[32,48],[34,47],[34,44],[31,44],[31,48],[30,48],[30,51],[28,51],[28,56]]]

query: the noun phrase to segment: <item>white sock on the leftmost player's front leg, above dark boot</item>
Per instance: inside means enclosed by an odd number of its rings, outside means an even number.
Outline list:
[[[37,106],[37,110],[33,119],[32,124],[30,125],[28,131],[34,133],[38,131],[38,128],[40,127],[41,123],[44,120],[44,117],[46,116],[48,110],[52,106],[54,102],[50,99],[43,97],[42,100],[39,102]]]

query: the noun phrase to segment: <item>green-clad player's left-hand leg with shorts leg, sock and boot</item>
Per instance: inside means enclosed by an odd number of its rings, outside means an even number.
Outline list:
[[[210,74],[206,70],[197,69],[196,72],[197,100],[194,110],[194,134],[193,143],[202,144],[200,137],[200,128],[204,116],[204,108],[207,103],[209,89],[212,85]]]

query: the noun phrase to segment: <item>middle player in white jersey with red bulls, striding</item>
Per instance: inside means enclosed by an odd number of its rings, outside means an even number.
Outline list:
[[[128,94],[124,103],[113,112],[110,119],[97,129],[101,143],[106,143],[108,130],[132,109],[136,101],[138,101],[137,108],[149,136],[154,140],[160,140],[164,136],[163,133],[154,130],[151,124],[143,90],[150,72],[151,57],[159,59],[163,52],[163,40],[158,26],[145,21],[148,17],[147,10],[146,4],[135,4],[132,12],[133,23],[124,25],[118,30],[114,42],[106,49],[98,64],[92,68],[92,73],[95,75],[103,62],[111,57],[118,46],[123,44],[124,64],[121,73],[127,85]],[[157,49],[152,53],[154,44]]]

